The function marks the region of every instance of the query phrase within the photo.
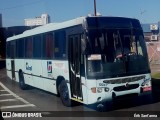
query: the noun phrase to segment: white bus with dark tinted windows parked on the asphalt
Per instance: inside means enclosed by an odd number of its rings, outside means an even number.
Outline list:
[[[72,101],[101,105],[151,93],[143,31],[137,19],[79,17],[7,39],[7,75]]]

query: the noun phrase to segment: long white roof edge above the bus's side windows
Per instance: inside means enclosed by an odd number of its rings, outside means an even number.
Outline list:
[[[75,25],[80,25],[83,23],[84,19],[85,17],[79,17],[79,18],[61,22],[61,23],[49,23],[47,25],[39,26],[31,30],[26,30],[22,34],[9,37],[7,38],[7,41],[16,40],[16,39],[37,35],[37,34],[49,32],[49,31],[53,31],[53,30],[75,26]]]

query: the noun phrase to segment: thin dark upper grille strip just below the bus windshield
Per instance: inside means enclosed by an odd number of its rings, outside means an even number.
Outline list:
[[[122,79],[114,79],[114,80],[104,80],[104,83],[107,84],[121,84],[121,83],[129,83],[129,82],[135,82],[139,81],[141,79],[145,79],[145,75],[138,76],[138,77],[130,77],[130,78],[122,78]]]

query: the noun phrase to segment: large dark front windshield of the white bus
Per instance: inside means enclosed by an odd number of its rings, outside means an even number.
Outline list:
[[[105,79],[150,71],[141,29],[91,28],[87,42],[88,78]]]

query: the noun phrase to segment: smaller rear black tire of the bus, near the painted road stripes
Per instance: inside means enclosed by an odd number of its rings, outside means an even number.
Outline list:
[[[24,76],[23,76],[23,72],[22,71],[19,72],[19,87],[22,90],[26,90],[27,89],[27,85],[25,84]]]

